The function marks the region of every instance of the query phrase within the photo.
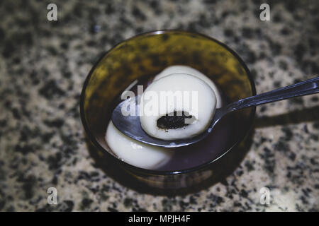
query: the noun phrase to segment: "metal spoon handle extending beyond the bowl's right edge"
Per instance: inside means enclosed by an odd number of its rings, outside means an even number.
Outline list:
[[[291,97],[310,95],[314,93],[319,93],[319,76],[316,78],[310,78],[300,83],[272,90],[267,93],[262,93],[259,95],[254,95],[252,97],[244,98],[242,100],[237,100],[236,102],[227,105],[225,108],[226,112],[228,113],[245,107],[264,105],[270,102],[285,100]]]

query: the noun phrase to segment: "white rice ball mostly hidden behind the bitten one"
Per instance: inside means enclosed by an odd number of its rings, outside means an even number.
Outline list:
[[[164,69],[161,73],[157,74],[157,76],[154,77],[153,81],[157,81],[157,80],[159,80],[159,78],[169,76],[173,73],[187,73],[191,76],[195,76],[197,78],[200,78],[201,80],[206,82],[215,93],[216,100],[217,100],[216,108],[222,107],[222,100],[220,97],[220,93],[219,93],[218,88],[216,87],[215,83],[213,83],[213,81],[211,81],[211,79],[209,79],[207,76],[205,76],[203,73],[201,73],[201,71],[193,69],[190,66],[184,66],[184,65],[169,66],[166,69]]]

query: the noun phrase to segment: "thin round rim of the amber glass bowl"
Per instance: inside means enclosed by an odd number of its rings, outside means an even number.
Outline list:
[[[250,70],[248,69],[245,61],[243,61],[241,59],[241,57],[239,56],[239,54],[237,54],[237,52],[235,52],[235,50],[231,49],[230,47],[228,47],[227,44],[220,42],[219,40],[216,40],[213,37],[210,37],[208,35],[204,35],[201,34],[199,32],[191,32],[188,30],[168,30],[168,29],[162,29],[162,30],[152,30],[149,32],[142,32],[139,33],[138,35],[134,35],[133,37],[130,37],[128,39],[122,40],[121,42],[118,42],[117,44],[115,44],[113,47],[111,47],[111,49],[108,49],[106,52],[103,52],[103,54],[101,54],[101,57],[99,57],[99,59],[94,63],[94,66],[92,66],[91,70],[89,71],[88,75],[85,78],[83,87],[82,87],[82,92],[80,95],[80,102],[79,102],[79,110],[80,110],[80,117],[81,117],[81,121],[82,121],[82,125],[84,126],[84,130],[86,132],[86,135],[89,137],[89,141],[91,141],[91,143],[93,143],[93,145],[95,146],[95,148],[98,148],[99,150],[101,150],[103,153],[105,153],[106,155],[108,155],[109,157],[111,157],[112,160],[116,160],[116,162],[118,162],[119,165],[123,165],[123,167],[128,168],[130,170],[132,170],[133,172],[138,172],[140,174],[148,174],[148,175],[157,175],[157,176],[164,176],[164,175],[174,175],[174,174],[186,174],[189,172],[196,172],[200,169],[206,168],[208,167],[208,165],[211,165],[213,162],[216,162],[217,160],[219,160],[221,157],[223,157],[226,153],[228,153],[230,150],[232,150],[233,148],[235,148],[240,142],[242,142],[245,137],[247,136],[247,134],[249,133],[249,131],[252,129],[252,125],[254,122],[254,116],[256,114],[256,107],[251,107],[251,112],[250,112],[250,116],[248,117],[249,120],[249,125],[247,126],[247,132],[244,133],[244,135],[242,137],[240,137],[230,148],[228,148],[228,150],[225,150],[225,152],[223,154],[221,154],[220,156],[216,157],[213,160],[210,160],[208,162],[205,162],[201,165],[198,165],[196,167],[191,167],[188,169],[180,169],[180,170],[172,170],[172,171],[160,171],[160,170],[155,170],[155,169],[143,169],[140,167],[135,167],[134,165],[130,165],[127,162],[124,162],[122,160],[120,160],[118,157],[112,155],[111,153],[108,152],[108,150],[106,150],[106,148],[103,148],[98,141],[96,141],[96,138],[93,136],[93,134],[91,133],[89,126],[86,124],[86,119],[85,119],[85,113],[84,113],[84,95],[85,95],[85,90],[87,85],[89,84],[90,78],[94,72],[94,70],[96,69],[96,66],[99,65],[99,63],[101,62],[101,60],[106,57],[106,55],[111,52],[113,49],[115,49],[116,47],[118,47],[118,45],[123,44],[124,42],[127,42],[129,40],[133,40],[137,37],[142,37],[142,36],[153,36],[153,35],[162,35],[165,33],[171,33],[171,32],[179,32],[179,33],[184,33],[184,34],[189,34],[189,35],[197,35],[197,36],[201,36],[204,37],[208,40],[211,40],[213,42],[216,42],[217,44],[220,44],[220,46],[224,47],[226,50],[228,50],[228,52],[230,52],[230,54],[233,54],[233,56],[240,62],[241,66],[244,68],[248,80],[250,81],[250,88],[252,89],[252,95],[256,95],[256,88],[255,88],[255,84],[254,84],[254,79],[252,78],[252,74],[250,73]]]

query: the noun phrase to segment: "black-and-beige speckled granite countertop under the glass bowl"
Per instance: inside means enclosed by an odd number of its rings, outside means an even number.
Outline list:
[[[222,181],[166,196],[118,182],[96,165],[79,94],[99,56],[140,32],[201,32],[244,59],[257,93],[319,72],[318,1],[0,1],[1,211],[319,210],[319,96],[257,108],[252,144]],[[259,20],[268,3],[271,21]],[[47,204],[55,187],[57,205]],[[267,187],[271,203],[259,202]]]

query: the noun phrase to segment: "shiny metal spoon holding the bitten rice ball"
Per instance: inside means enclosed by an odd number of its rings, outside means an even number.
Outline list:
[[[262,93],[259,95],[254,95],[252,97],[244,98],[242,100],[237,100],[233,103],[230,103],[229,105],[226,105],[225,107],[216,109],[216,112],[211,121],[211,125],[208,127],[208,129],[206,129],[206,131],[199,134],[198,136],[176,141],[164,141],[149,136],[142,129],[140,125],[140,117],[138,116],[138,114],[135,114],[136,116],[123,116],[121,108],[123,107],[125,102],[127,103],[127,101],[129,101],[129,99],[121,102],[116,107],[116,109],[114,109],[111,118],[114,126],[116,126],[118,130],[120,130],[122,133],[129,136],[130,138],[133,138],[142,143],[148,143],[150,145],[156,145],[165,148],[177,148],[196,143],[203,140],[203,138],[206,138],[206,136],[208,136],[208,134],[212,131],[213,126],[215,126],[218,121],[225,116],[225,114],[229,114],[230,112],[234,112],[245,107],[264,105],[269,102],[275,102],[279,100],[289,99],[291,97],[310,95],[314,93],[319,93],[319,76],[306,81],[302,81],[300,83],[296,83],[294,85],[289,85],[283,88],[272,90],[267,93]],[[136,97],[136,101],[137,100],[138,99]]]

